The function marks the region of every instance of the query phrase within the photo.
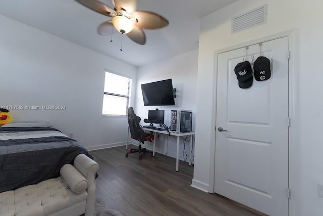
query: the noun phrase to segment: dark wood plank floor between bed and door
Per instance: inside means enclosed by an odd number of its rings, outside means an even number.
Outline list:
[[[135,147],[131,146],[130,147]],[[193,167],[146,153],[125,157],[125,146],[91,151],[99,164],[97,195],[105,206],[133,215],[262,215],[216,194],[191,187]]]

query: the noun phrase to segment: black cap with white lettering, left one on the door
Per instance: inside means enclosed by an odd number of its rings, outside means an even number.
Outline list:
[[[237,76],[240,88],[249,88],[252,85],[252,69],[250,62],[240,62],[235,68],[234,72]]]

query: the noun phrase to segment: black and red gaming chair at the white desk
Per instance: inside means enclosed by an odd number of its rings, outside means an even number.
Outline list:
[[[128,108],[128,124],[129,124],[131,138],[138,140],[139,146],[138,146],[138,148],[130,148],[130,150],[127,151],[127,153],[126,153],[126,157],[128,157],[128,155],[130,153],[135,153],[135,152],[139,152],[139,159],[142,158],[142,153],[145,153],[145,152],[150,153],[152,156],[151,150],[147,150],[146,148],[141,148],[141,143],[144,144],[145,141],[151,142],[154,137],[153,137],[152,132],[145,133],[144,130],[142,130],[142,128],[139,125],[140,120],[141,120],[141,118],[139,116],[136,116],[135,112],[133,111],[133,108],[129,107]]]

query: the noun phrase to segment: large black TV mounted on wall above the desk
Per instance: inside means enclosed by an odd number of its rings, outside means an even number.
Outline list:
[[[175,105],[172,79],[141,84],[145,106]]]

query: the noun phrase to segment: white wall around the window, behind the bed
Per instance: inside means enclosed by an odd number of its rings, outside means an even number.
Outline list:
[[[136,67],[3,16],[0,26],[0,106],[66,106],[11,110],[14,121],[51,122],[88,148],[125,143],[127,118],[101,117],[104,73],[129,75],[136,83]]]

